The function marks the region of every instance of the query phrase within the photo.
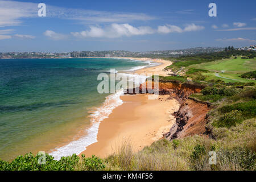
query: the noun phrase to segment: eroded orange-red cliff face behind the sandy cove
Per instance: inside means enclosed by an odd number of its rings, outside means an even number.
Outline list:
[[[137,89],[137,93],[142,93],[142,90],[145,90],[147,86],[148,81]],[[169,95],[170,98],[176,98],[181,104],[179,110],[174,113],[176,123],[168,133],[163,134],[164,138],[172,140],[195,134],[208,134],[205,125],[207,124],[207,113],[211,109],[210,103],[189,97],[193,93],[200,93],[203,88],[204,86],[189,82],[183,84],[175,81],[159,82],[159,95]],[[152,83],[152,89],[154,89],[154,83]],[[127,90],[127,94],[137,93],[135,89]]]

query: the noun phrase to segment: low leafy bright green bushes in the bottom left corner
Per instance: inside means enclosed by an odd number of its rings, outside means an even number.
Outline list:
[[[45,164],[44,164],[45,162]],[[92,158],[79,158],[76,154],[54,160],[53,156],[46,154],[24,156],[20,155],[12,162],[0,160],[0,171],[74,171],[74,170],[102,170],[105,168],[102,160],[96,156]]]

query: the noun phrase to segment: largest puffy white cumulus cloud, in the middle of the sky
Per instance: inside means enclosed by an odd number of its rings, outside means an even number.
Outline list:
[[[119,38],[121,36],[147,35],[155,31],[150,27],[133,27],[130,24],[112,23],[110,26],[101,28],[90,26],[90,30],[71,32],[77,38]]]

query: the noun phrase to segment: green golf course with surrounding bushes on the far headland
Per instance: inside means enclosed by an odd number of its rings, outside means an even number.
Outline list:
[[[166,69],[171,69],[176,74],[179,73],[179,75],[198,81],[256,82],[249,80],[249,78],[255,77],[255,57],[255,51],[237,51],[230,47],[221,52],[181,56],[176,59],[166,58],[174,62]],[[248,71],[250,72],[246,74]]]

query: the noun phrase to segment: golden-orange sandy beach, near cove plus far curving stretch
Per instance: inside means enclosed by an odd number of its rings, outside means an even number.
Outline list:
[[[135,59],[123,57],[125,59]],[[158,73],[167,76],[163,71],[171,65],[171,61],[160,59],[136,58],[136,60],[150,60],[161,63],[156,67],[144,68],[134,73]],[[81,152],[86,156],[97,155],[102,158],[118,151],[125,142],[130,142],[134,151],[142,150],[154,141],[163,137],[163,133],[170,130],[175,122],[172,115],[179,109],[179,103],[169,96],[159,96],[155,100],[148,100],[148,94],[121,96],[123,104],[113,110],[108,118],[100,123],[98,142],[86,147]]]

